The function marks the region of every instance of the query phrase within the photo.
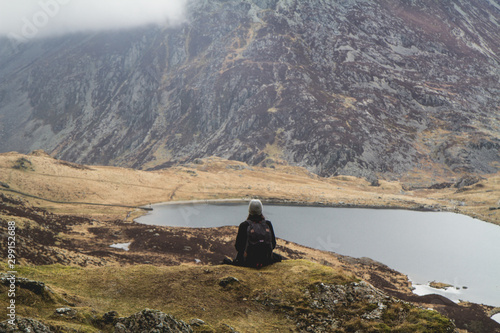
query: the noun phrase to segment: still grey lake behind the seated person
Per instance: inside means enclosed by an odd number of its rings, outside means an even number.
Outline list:
[[[247,204],[158,204],[153,209],[136,221],[219,227],[239,225],[248,213]],[[408,275],[417,294],[500,306],[500,226],[449,212],[264,205],[263,213],[276,237],[377,260]],[[431,281],[459,289],[433,289]]]

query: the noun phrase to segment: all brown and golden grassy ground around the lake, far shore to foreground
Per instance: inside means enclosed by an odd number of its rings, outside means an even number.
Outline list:
[[[221,266],[224,256],[234,255],[236,227],[157,227],[132,219],[143,213],[137,206],[149,203],[260,197],[443,209],[499,223],[500,211],[490,209],[498,208],[499,180],[500,175],[492,175],[460,187],[432,179],[370,184],[353,177],[320,178],[286,165],[249,167],[216,158],[146,172],[77,165],[42,152],[8,153],[0,154],[0,234],[7,234],[7,221],[16,222],[16,269],[29,279],[18,280],[18,316],[38,319],[54,332],[112,332],[117,317],[145,308],[188,323],[201,319],[205,325],[193,326],[200,332],[311,327],[445,332],[452,327],[446,318],[463,330],[493,332],[498,326],[486,315],[491,308],[413,295],[406,276],[368,258],[279,239],[278,252],[289,259],[283,263],[259,271]],[[127,242],[129,251],[110,247]],[[6,237],[0,245],[1,273],[8,270]],[[1,307],[8,301],[3,278]],[[229,283],[222,287],[225,278]],[[57,313],[61,308],[68,309]],[[5,312],[0,319],[6,319]]]

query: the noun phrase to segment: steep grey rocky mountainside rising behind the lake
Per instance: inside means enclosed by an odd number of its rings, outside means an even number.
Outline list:
[[[0,42],[1,151],[321,175],[500,166],[494,1],[207,0],[175,28]]]

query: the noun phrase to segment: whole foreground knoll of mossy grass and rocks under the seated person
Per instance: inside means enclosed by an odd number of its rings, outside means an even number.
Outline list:
[[[136,265],[116,269],[49,265],[22,267],[19,274],[44,281],[48,289],[33,291],[27,284],[19,288],[18,315],[40,320],[61,332],[113,332],[105,313],[116,311],[119,316],[129,316],[145,308],[161,310],[188,323],[201,319],[205,324],[194,326],[198,332],[229,332],[230,328],[239,332],[289,332],[300,325],[325,322],[327,317],[337,323],[338,332],[356,328],[450,332],[453,328],[435,311],[389,296],[377,299],[381,297],[377,291],[359,284],[354,276],[305,260],[289,260],[261,270],[233,266]],[[229,282],[223,286],[221,281]],[[349,291],[356,290],[349,289],[351,285],[363,291]],[[322,286],[348,290],[349,297],[335,308],[322,307],[328,304],[326,294],[319,292]],[[0,300],[6,304],[7,293],[3,291]],[[71,312],[58,314],[56,310],[62,307],[69,307]],[[379,308],[383,310],[377,313]]]

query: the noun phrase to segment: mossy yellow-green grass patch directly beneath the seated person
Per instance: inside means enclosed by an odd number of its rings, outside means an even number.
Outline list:
[[[54,296],[53,300],[44,301],[39,295],[25,292],[26,301],[20,300],[17,307],[19,316],[51,322],[57,319],[53,316],[55,309],[67,306],[66,300],[73,303],[72,308],[82,316],[89,310],[94,317],[108,311],[129,316],[153,308],[186,322],[199,318],[216,330],[229,325],[240,332],[293,330],[292,320],[254,300],[260,294],[278,293],[275,296],[280,301],[292,303],[299,302],[311,284],[356,281],[339,269],[305,260],[290,260],[261,270],[227,265],[134,265],[120,269],[49,265],[20,267],[19,274],[44,281],[55,295],[64,295],[64,298]],[[239,282],[221,287],[219,282],[226,277],[234,277]],[[4,319],[3,314],[0,317]],[[88,320],[80,320],[87,331],[93,331]],[[78,319],[72,320],[73,324],[75,321]],[[56,324],[57,320],[52,323]]]

